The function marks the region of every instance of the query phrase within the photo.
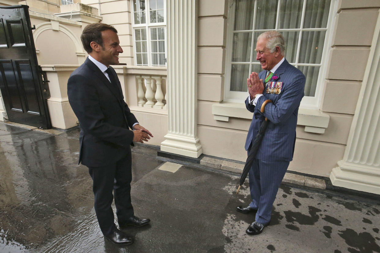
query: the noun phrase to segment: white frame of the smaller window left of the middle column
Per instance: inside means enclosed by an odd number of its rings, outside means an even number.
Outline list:
[[[134,6],[133,6],[133,0],[131,2],[131,18],[132,18],[132,39],[133,39],[133,58],[134,58],[134,63],[135,66],[156,66],[156,67],[166,67],[167,62],[167,38],[166,38],[166,0],[163,0],[163,5],[164,5],[164,22],[160,23],[150,23],[150,11],[149,11],[149,4],[150,0],[145,0],[145,24],[135,24],[135,11],[134,11]],[[153,65],[152,64],[152,40],[150,36],[150,29],[151,28],[164,28],[164,33],[165,33],[165,65]],[[146,36],[147,36],[147,55],[148,55],[148,62],[147,64],[137,64],[137,54],[136,54],[136,34],[135,30],[136,29],[141,29],[145,28],[146,29]]]

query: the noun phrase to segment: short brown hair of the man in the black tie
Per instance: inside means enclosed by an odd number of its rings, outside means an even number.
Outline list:
[[[91,42],[97,42],[103,49],[103,38],[101,38],[101,32],[111,30],[117,33],[117,30],[112,25],[102,24],[102,23],[93,23],[87,25],[81,35],[81,41],[83,44],[84,50],[86,50],[87,53],[92,52],[91,48]]]

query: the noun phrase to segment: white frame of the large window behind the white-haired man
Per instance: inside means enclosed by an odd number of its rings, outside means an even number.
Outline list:
[[[279,0],[277,9],[280,8],[281,1]],[[257,1],[255,1],[255,9],[256,9]],[[242,91],[230,91],[230,81],[231,81],[231,66],[232,64],[250,64],[253,62],[257,62],[255,59],[252,59],[250,62],[233,62],[231,61],[232,58],[232,46],[233,46],[233,33],[234,32],[242,32],[242,31],[268,31],[268,30],[254,30],[254,26],[252,27],[252,30],[239,30],[239,31],[233,31],[234,28],[234,18],[235,18],[235,6],[236,6],[236,0],[230,0],[229,4],[229,9],[228,9],[228,22],[227,22],[227,44],[226,44],[226,68],[225,68],[225,92],[224,92],[224,101],[226,102],[237,102],[241,103],[241,101],[244,101],[247,96],[248,96],[248,90],[247,92],[242,92]],[[306,8],[306,1],[303,2],[303,7],[302,7],[302,17],[301,17],[301,25],[303,24],[304,21],[304,11]],[[315,109],[319,108],[320,102],[321,102],[321,96],[322,96],[322,91],[323,91],[323,86],[324,86],[324,80],[325,80],[325,75],[326,75],[326,63],[328,62],[328,55],[329,51],[331,49],[331,34],[332,34],[332,24],[334,24],[333,19],[334,19],[334,13],[336,13],[336,8],[337,8],[337,0],[331,0],[330,3],[330,9],[329,9],[329,17],[328,17],[328,23],[326,25],[326,28],[297,28],[297,29],[278,29],[278,19],[279,19],[279,11],[277,11],[277,21],[276,21],[276,28],[274,30],[282,32],[282,31],[299,31],[299,36],[301,36],[302,31],[326,31],[326,37],[325,37],[325,42],[323,45],[323,53],[322,53],[322,58],[321,58],[321,63],[320,64],[307,64],[307,63],[300,63],[297,64],[296,66],[320,66],[319,69],[319,74],[318,74],[318,81],[317,81],[317,87],[315,90],[315,96],[313,97],[308,97],[304,96],[301,101],[300,107],[302,108],[309,108],[309,109]],[[256,19],[256,13],[254,14],[253,20]],[[253,38],[252,38],[253,39]],[[287,46],[287,45],[285,45]],[[301,46],[301,43],[298,43],[298,51],[299,47]],[[253,50],[255,49],[256,45],[251,46],[251,56],[253,53]],[[298,57],[299,53],[297,52],[297,58],[296,62],[298,62]],[[293,66],[295,64],[292,64]],[[250,68],[251,70],[251,68]]]

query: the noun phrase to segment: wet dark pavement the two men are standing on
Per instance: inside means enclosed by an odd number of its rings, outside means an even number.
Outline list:
[[[380,252],[380,200],[281,185],[271,225],[245,234],[254,214],[238,177],[158,160],[136,145],[135,214],[152,222],[106,241],[93,209],[92,180],[78,165],[79,130],[59,135],[0,123],[0,252]]]

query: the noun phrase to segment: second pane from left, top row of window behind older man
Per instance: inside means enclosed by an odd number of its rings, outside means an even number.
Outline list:
[[[278,0],[257,1],[255,29],[274,29]],[[252,11],[252,9],[250,10]]]

